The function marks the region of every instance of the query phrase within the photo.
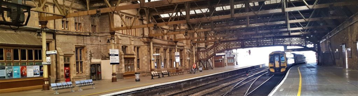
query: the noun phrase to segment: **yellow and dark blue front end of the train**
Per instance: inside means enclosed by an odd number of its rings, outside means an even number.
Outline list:
[[[286,70],[285,52],[275,51],[269,55],[270,74],[282,74]]]

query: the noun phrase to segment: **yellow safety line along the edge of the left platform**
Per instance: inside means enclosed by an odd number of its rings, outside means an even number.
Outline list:
[[[245,66],[245,67],[246,67],[246,66]],[[240,67],[240,68],[241,68],[241,67]],[[239,69],[239,68],[236,68],[236,69]],[[234,69],[230,69],[230,70],[234,70]],[[223,71],[229,71],[229,70],[223,70]],[[217,73],[217,72],[222,72],[222,71],[215,71],[215,72],[211,72],[211,73],[207,73],[207,74],[212,74],[212,73]],[[207,75],[207,74],[201,74],[201,75]],[[198,75],[194,75],[194,76],[198,76]],[[194,76],[189,76],[189,77],[194,77]],[[184,77],[184,78],[175,79],[175,80],[182,80],[182,79],[189,78],[189,77]],[[168,81],[175,81],[175,80],[168,80]],[[161,82],[168,82],[168,81],[161,81]],[[161,82],[155,82],[155,83],[150,83],[150,84],[159,84],[159,83],[161,83]],[[150,85],[150,84],[143,84],[143,85],[137,85],[137,86],[132,86],[132,87],[138,87],[138,86],[144,86],[144,85]],[[115,90],[97,92],[97,93],[87,94],[87,95],[82,95],[82,96],[102,94],[102,93],[105,93],[105,92],[111,92],[111,91],[117,91],[117,90],[122,90],[122,89],[128,89],[128,88],[132,88],[132,87],[125,87],[125,88],[121,88],[121,89],[115,89]]]

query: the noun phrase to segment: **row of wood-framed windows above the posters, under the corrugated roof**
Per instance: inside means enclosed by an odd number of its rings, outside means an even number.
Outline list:
[[[0,47],[0,66],[20,65],[42,65],[42,50]]]

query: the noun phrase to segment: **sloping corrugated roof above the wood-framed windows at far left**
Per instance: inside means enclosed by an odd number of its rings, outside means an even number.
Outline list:
[[[34,45],[41,46],[42,43],[37,37],[29,34],[4,33],[0,32],[0,44]]]

